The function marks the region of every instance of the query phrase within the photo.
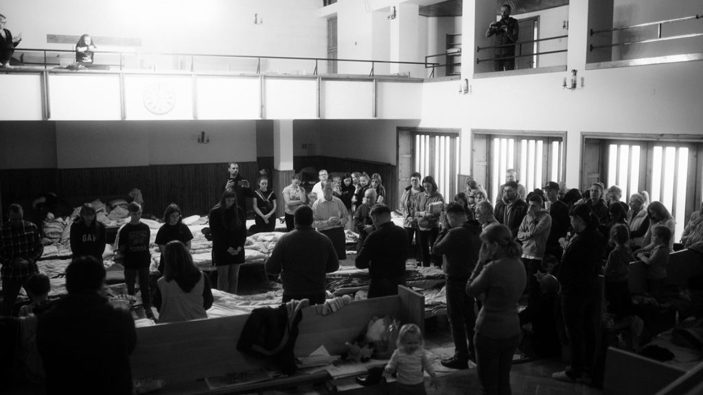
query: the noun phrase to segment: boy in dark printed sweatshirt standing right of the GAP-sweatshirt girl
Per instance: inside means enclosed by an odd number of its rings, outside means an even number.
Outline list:
[[[122,252],[122,265],[124,266],[124,283],[127,284],[127,293],[134,295],[134,283],[139,276],[139,290],[141,302],[147,318],[153,319],[151,311],[151,292],[149,290],[149,227],[141,220],[141,206],[136,202],[129,203],[129,222],[120,228],[117,249]]]

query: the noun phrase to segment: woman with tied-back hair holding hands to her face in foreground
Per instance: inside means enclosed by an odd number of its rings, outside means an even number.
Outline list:
[[[481,394],[510,394],[512,355],[520,344],[517,302],[527,284],[522,248],[505,225],[481,233],[479,261],[466,292],[483,306],[476,318],[474,344]]]

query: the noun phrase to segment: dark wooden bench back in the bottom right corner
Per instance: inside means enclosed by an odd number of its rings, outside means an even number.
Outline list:
[[[605,395],[653,395],[685,370],[610,347],[605,357]]]

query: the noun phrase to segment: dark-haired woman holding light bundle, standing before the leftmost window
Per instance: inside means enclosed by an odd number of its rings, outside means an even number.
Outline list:
[[[415,202],[415,218],[418,220],[418,235],[420,250],[423,252],[423,266],[441,266],[441,258],[431,254],[430,247],[434,245],[439,235],[439,213],[444,209],[444,196],[437,192],[437,183],[432,176],[423,179],[425,193],[420,193]]]

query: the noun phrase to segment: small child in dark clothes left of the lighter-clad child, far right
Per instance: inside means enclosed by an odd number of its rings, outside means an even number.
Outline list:
[[[629,247],[630,231],[624,224],[610,228],[610,244],[614,249],[605,264],[605,299],[608,311],[621,318],[631,314],[632,299],[628,288],[628,266],[635,261]]]

